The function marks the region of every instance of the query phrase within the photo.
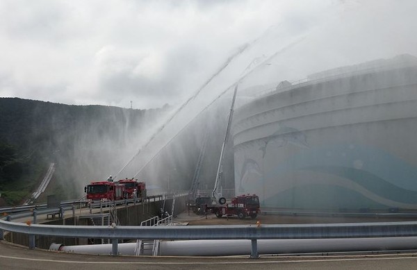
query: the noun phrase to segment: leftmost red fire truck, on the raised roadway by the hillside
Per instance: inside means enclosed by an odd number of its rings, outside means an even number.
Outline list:
[[[124,185],[109,181],[91,182],[90,185],[84,187],[85,197],[88,200],[98,201],[107,199],[117,201],[124,199]]]

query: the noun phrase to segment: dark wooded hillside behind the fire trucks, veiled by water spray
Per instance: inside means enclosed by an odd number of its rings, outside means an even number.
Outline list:
[[[194,121],[178,134],[172,133],[170,144],[156,146],[162,149],[160,153],[138,158],[133,174],[150,160],[137,177],[165,190],[187,190],[207,137],[199,189],[213,188],[229,106],[224,100],[202,115],[196,112]],[[114,176],[138,153],[161,126],[158,120],[163,119],[165,109],[69,106],[0,98],[0,206],[19,205],[28,199],[51,162],[56,163],[54,177],[36,203],[48,194],[57,194],[61,200],[81,198],[86,184]],[[228,144],[224,188],[234,187],[233,162],[233,149]]]

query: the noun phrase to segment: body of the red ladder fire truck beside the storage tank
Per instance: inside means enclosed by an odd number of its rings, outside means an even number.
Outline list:
[[[255,194],[240,195],[231,199],[231,203],[224,205],[207,205],[207,210],[210,210],[216,217],[237,215],[239,219],[251,217],[252,219],[261,212],[259,208],[259,197]]]

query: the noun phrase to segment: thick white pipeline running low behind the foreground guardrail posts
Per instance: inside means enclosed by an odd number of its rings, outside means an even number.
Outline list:
[[[54,246],[55,245],[55,246]],[[51,245],[51,250],[72,253],[111,255],[111,244],[62,246]],[[135,255],[136,243],[119,244],[121,255]],[[162,241],[163,256],[226,256],[250,255],[250,240],[187,240]],[[268,239],[258,240],[258,253],[330,253],[347,251],[395,251],[417,249],[417,237],[343,238],[343,239]]]

